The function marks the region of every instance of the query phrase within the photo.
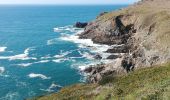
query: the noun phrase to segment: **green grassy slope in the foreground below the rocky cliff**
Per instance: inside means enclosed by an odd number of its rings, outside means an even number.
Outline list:
[[[109,85],[108,85],[109,83]],[[38,100],[169,100],[170,63],[140,69],[117,78],[107,77],[96,84],[77,84]]]

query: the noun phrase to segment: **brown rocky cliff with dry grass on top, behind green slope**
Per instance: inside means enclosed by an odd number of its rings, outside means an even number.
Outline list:
[[[168,62],[170,60],[169,5],[170,0],[142,0],[128,8],[101,14],[95,21],[89,23],[79,37],[92,39],[95,43],[118,45],[107,52],[124,53],[124,55],[120,59],[121,63],[106,65],[106,67],[111,66],[109,70],[113,70],[114,67],[117,71],[123,67],[128,72]],[[102,77],[97,73],[92,76],[95,76],[92,80],[100,80]]]

